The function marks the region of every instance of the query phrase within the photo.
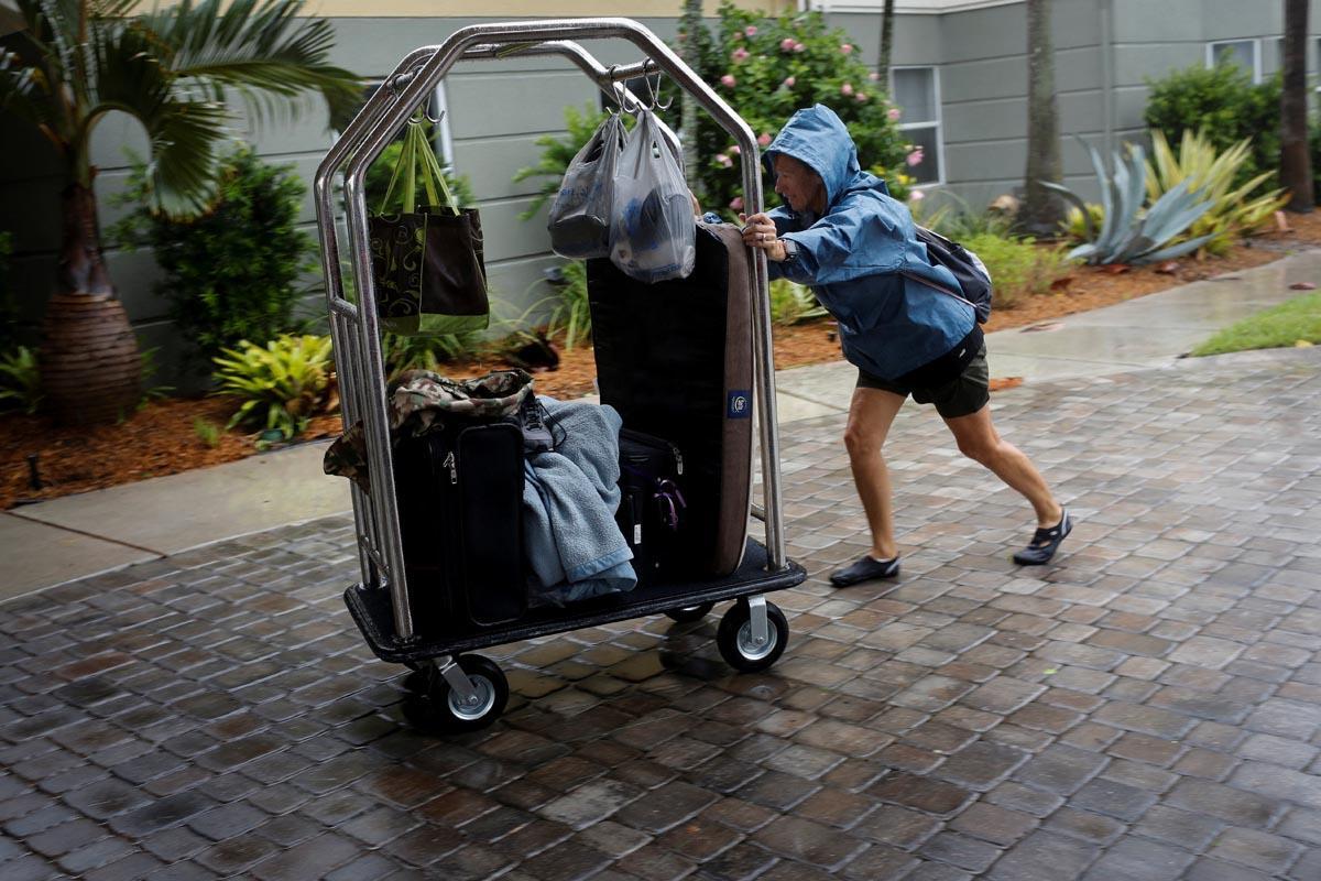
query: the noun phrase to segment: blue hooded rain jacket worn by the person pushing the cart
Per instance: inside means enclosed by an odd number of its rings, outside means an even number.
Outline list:
[[[812,288],[839,322],[849,363],[896,379],[972,332],[971,305],[900,275],[960,289],[954,273],[927,259],[908,207],[890,197],[885,181],[859,168],[857,148],[835,111],[816,104],[794,114],[766,148],[768,166],[775,153],[820,174],[827,207],[820,217],[787,205],[769,213],[778,235],[798,244],[797,260],[769,264],[770,277]]]

